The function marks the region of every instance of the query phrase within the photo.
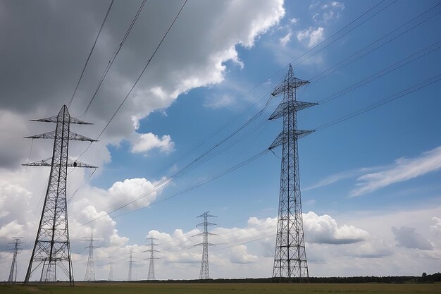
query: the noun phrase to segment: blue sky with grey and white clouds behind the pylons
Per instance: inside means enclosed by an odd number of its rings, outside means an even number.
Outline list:
[[[97,280],[109,257],[127,280],[130,250],[132,279],[146,279],[149,237],[156,278],[198,278],[204,212],[211,278],[271,276],[281,149],[265,151],[289,63],[310,81],[297,99],[318,102],[298,114],[316,130],[299,140],[309,275],[440,271],[439,1],[189,0],[166,34],[184,1],[153,0],[125,37],[142,1],[116,0],[73,96],[110,4],[0,1],[0,281],[13,237],[24,279],[49,177],[21,164],[53,142],[23,137],[54,130],[30,120],[63,104],[94,123],[71,130],[99,138],[69,145],[99,166],[68,171],[76,281],[92,229]]]

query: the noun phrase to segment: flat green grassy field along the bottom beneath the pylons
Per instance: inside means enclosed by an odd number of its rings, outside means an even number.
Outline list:
[[[383,284],[383,283],[75,283],[75,287],[57,285],[0,285],[1,294],[441,294],[441,283]]]

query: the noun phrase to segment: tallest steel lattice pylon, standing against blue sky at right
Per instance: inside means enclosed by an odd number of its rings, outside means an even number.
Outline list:
[[[297,88],[307,84],[308,81],[294,77],[290,64],[285,80],[275,87],[272,93],[273,96],[283,93],[283,100],[269,118],[273,120],[283,117],[282,133],[269,147],[271,150],[282,145],[273,277],[297,277],[300,281],[309,281],[309,271],[304,244],[297,140],[313,133],[313,130],[297,129],[297,111],[317,105],[317,103],[299,102],[296,99]]]

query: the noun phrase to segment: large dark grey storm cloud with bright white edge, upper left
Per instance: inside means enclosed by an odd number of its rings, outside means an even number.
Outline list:
[[[250,1],[189,1],[100,138],[101,147],[133,137],[132,116],[144,118],[170,106],[182,92],[221,82],[223,62],[238,61],[235,46],[251,47],[259,34],[284,16],[282,0],[259,1],[252,1],[253,5]],[[0,36],[7,40],[0,47],[1,109],[26,119],[58,113],[73,94],[108,4],[104,0],[1,2]],[[84,135],[97,136],[111,118],[181,5],[181,1],[147,1],[87,113],[86,120],[95,125]],[[138,6],[134,1],[114,2],[70,107],[72,116],[85,110]]]

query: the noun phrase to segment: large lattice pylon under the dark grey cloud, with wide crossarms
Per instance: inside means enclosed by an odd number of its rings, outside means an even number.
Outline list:
[[[56,123],[55,131],[30,136],[31,139],[54,139],[54,149],[52,158],[35,161],[24,166],[50,166],[51,173],[47,185],[46,197],[42,216],[39,222],[37,237],[35,238],[34,249],[30,257],[29,267],[27,267],[25,284],[29,283],[32,273],[42,265],[40,281],[56,282],[56,267],[68,276],[70,286],[74,285],[72,259],[70,257],[70,242],[68,230],[68,202],[66,201],[66,182],[68,178],[68,167],[89,166],[80,161],[68,159],[69,140],[89,141],[90,139],[70,131],[70,124],[89,125],[77,118],[70,117],[68,107],[63,105],[56,116],[42,118],[32,121],[42,121]],[[32,269],[34,262],[38,262],[37,267]],[[67,267],[64,262],[67,262]]]

